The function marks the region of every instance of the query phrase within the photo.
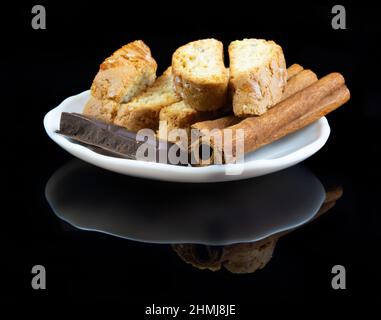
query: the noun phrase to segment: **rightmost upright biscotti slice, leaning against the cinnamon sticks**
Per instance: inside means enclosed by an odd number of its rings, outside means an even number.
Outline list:
[[[235,115],[261,115],[282,99],[287,72],[279,45],[262,39],[233,41],[229,58]]]

